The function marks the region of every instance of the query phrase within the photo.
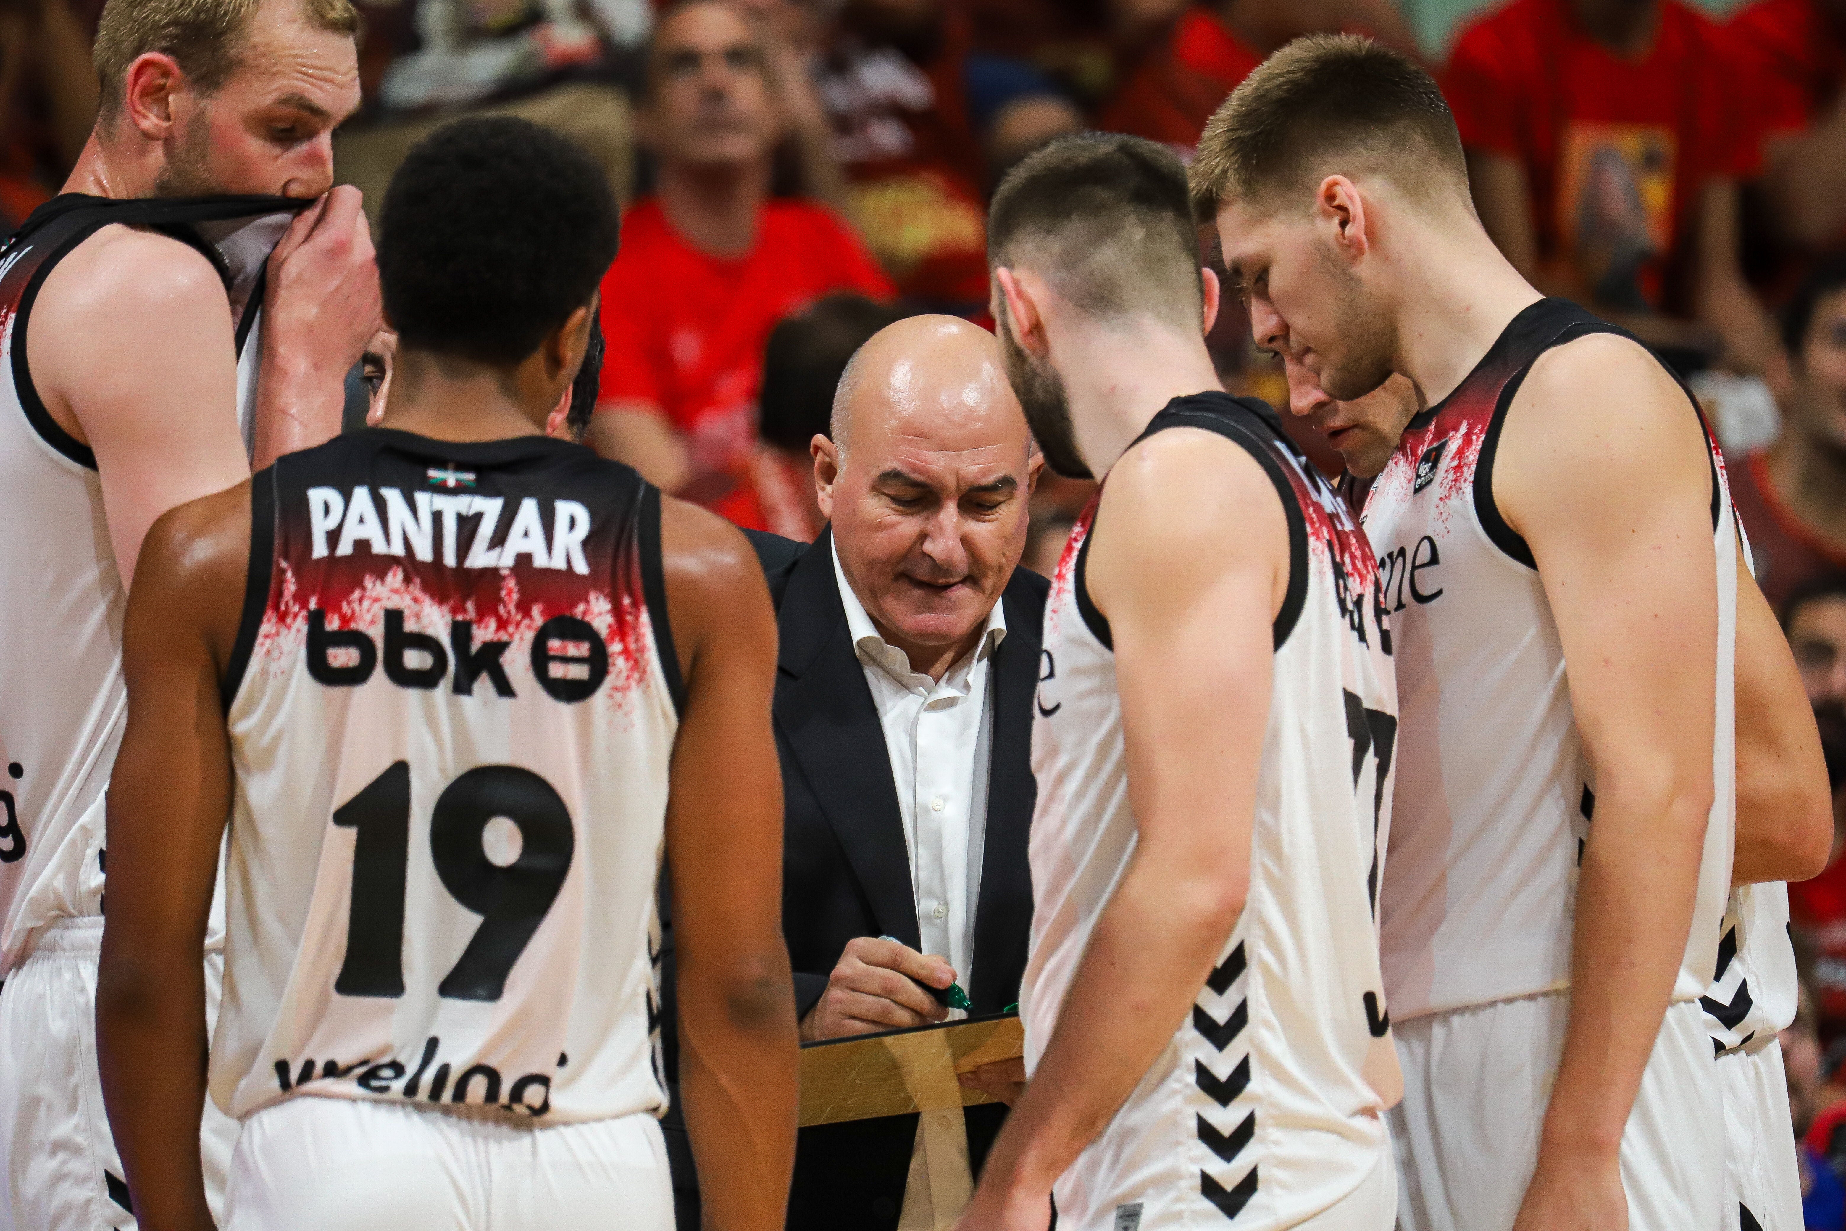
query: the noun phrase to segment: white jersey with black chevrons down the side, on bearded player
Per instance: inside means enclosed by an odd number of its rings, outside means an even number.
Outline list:
[[[1289,592],[1244,912],[1185,1026],[1058,1181],[1060,1225],[1078,1231],[1135,1205],[1148,1225],[1294,1225],[1388,1165],[1381,1113],[1401,1089],[1373,921],[1397,736],[1392,633],[1368,596],[1377,565],[1266,406],[1176,399],[1148,434],[1178,426],[1235,441],[1268,472],[1289,519]],[[1084,580],[1095,515],[1093,502],[1045,607],[1021,987],[1032,1069],[1137,836],[1115,653]]]

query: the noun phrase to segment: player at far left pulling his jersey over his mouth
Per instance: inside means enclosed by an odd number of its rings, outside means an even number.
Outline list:
[[[354,20],[111,0],[83,157],[0,247],[0,1225],[133,1225],[92,1004],[124,594],[155,517],[338,430],[377,323],[356,194],[321,196]],[[236,1129],[209,1120],[222,1190]]]

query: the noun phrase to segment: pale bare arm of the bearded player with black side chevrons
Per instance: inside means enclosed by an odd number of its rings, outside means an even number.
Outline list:
[[[1250,882],[1272,622],[1289,585],[1276,487],[1231,441],[1174,428],[1109,472],[1089,548],[1115,640],[1137,845],[964,1227],[1034,1231],[1052,1181],[1172,1039]]]

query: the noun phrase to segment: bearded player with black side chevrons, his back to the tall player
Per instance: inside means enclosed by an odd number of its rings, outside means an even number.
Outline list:
[[[1397,729],[1364,533],[1222,393],[1185,172],[1061,138],[993,199],[1049,463],[1104,478],[1045,611],[1032,1082],[967,1227],[1390,1227],[1373,886]]]

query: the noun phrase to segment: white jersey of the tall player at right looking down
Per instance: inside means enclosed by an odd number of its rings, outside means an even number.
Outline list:
[[[1530,550],[1493,504],[1492,474],[1527,369],[1597,332],[1619,330],[1562,299],[1525,308],[1447,399],[1410,421],[1366,502],[1403,707],[1383,886],[1384,986],[1397,1021],[1569,986],[1595,783],[1551,604]],[[1709,448],[1717,797],[1674,1002],[1711,982],[1735,838],[1737,532]]]

